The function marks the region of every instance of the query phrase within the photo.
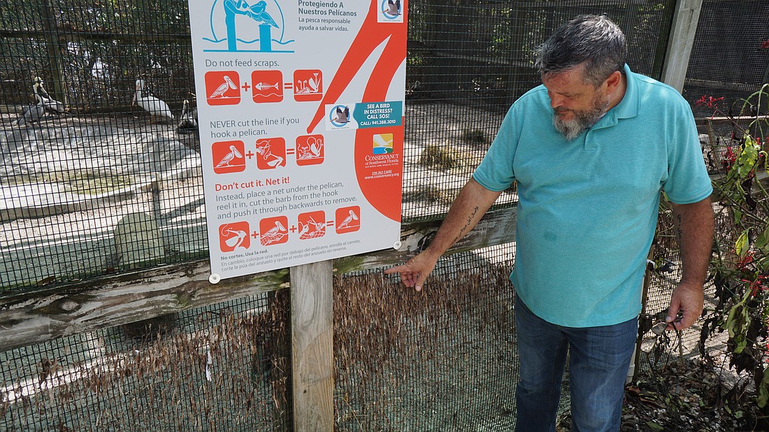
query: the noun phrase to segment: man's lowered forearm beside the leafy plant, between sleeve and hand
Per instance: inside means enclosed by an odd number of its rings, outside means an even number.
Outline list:
[[[704,284],[713,248],[711,199],[692,204],[673,204],[673,218],[681,247],[681,281]]]

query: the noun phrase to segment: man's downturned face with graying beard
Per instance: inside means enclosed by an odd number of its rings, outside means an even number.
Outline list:
[[[580,68],[556,75],[544,75],[542,83],[548,88],[553,108],[553,125],[572,140],[601,119],[609,105],[606,81],[598,88],[582,80]]]

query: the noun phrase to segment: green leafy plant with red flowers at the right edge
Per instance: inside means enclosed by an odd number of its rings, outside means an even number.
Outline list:
[[[737,102],[739,115],[726,115],[718,107],[723,98],[703,96],[695,105],[713,109],[732,125],[730,143],[721,159],[723,172],[714,179],[721,218],[714,243],[711,277],[716,305],[705,315],[700,347],[714,333],[727,332],[727,357],[737,372],[750,374],[756,388],[756,404],[769,411],[769,192],[767,152],[761,141],[767,136],[767,116],[761,107],[769,100],[769,85]],[[741,105],[740,105],[741,104]],[[710,137],[711,142],[718,141]]]

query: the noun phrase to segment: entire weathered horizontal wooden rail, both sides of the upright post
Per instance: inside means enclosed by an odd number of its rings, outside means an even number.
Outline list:
[[[401,264],[424,249],[441,221],[407,224],[401,247],[335,260],[337,274]],[[514,241],[515,208],[491,211],[447,254]],[[0,351],[128,324],[289,286],[288,269],[208,282],[208,259],[94,281],[0,294]]]

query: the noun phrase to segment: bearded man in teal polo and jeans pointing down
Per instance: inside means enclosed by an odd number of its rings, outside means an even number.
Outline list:
[[[543,85],[511,106],[429,247],[385,273],[417,291],[438,258],[518,182],[516,430],[555,430],[569,361],[573,430],[618,430],[661,191],[683,274],[668,329],[702,313],[713,238],[711,183],[691,108],[625,65],[620,28],[581,15],[538,48]]]

